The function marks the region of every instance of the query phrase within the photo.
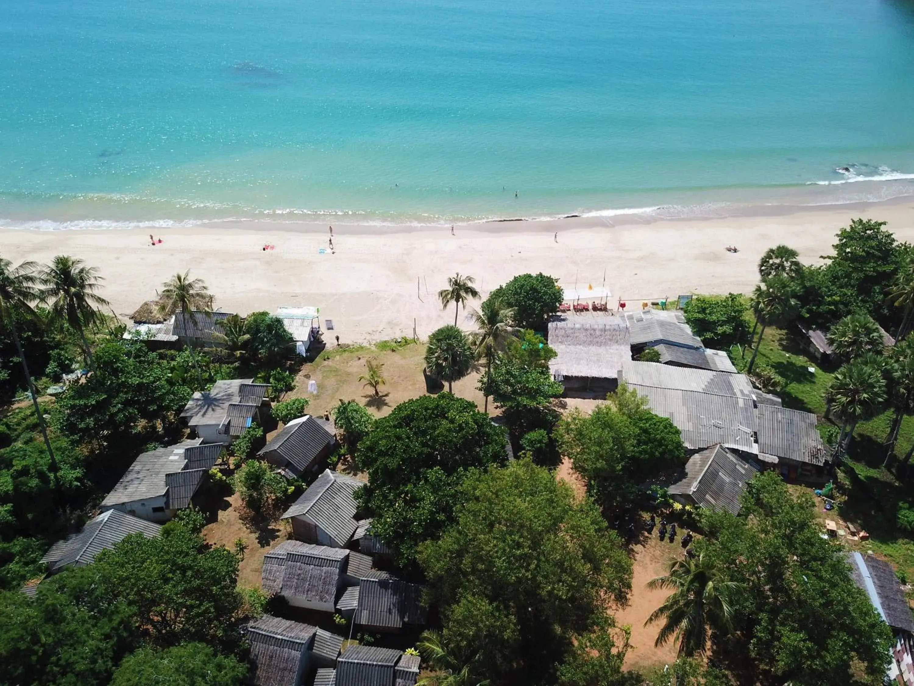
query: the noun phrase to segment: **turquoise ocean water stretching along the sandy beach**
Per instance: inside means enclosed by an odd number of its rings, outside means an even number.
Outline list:
[[[0,0],[0,16],[3,225],[914,194],[914,0]]]

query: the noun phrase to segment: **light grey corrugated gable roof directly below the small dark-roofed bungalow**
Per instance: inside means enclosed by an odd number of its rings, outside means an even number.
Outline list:
[[[352,538],[357,527],[353,494],[364,485],[356,478],[326,469],[285,511],[282,519],[307,517],[343,546]]]

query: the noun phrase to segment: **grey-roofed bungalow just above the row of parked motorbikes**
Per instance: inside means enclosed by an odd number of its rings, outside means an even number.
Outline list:
[[[726,509],[739,514],[739,495],[759,467],[714,445],[689,457],[685,477],[666,489],[683,505]]]

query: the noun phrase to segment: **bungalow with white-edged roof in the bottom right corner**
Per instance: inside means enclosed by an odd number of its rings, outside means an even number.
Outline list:
[[[892,566],[873,555],[847,552],[851,578],[864,590],[869,602],[895,634],[891,662],[886,670],[886,683],[898,683],[898,678],[914,686],[914,617],[904,589]]]

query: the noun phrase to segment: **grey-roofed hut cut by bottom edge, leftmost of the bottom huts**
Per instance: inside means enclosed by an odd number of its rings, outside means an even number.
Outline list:
[[[246,627],[250,682],[255,686],[299,686],[308,671],[332,667],[344,638],[324,629],[264,615]]]

